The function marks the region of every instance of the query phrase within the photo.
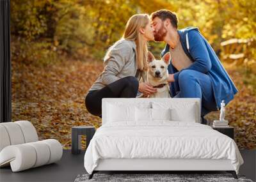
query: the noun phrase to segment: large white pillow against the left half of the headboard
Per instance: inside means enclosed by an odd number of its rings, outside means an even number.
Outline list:
[[[118,122],[118,121],[135,121],[135,108],[125,105],[115,105],[108,104],[108,121]]]

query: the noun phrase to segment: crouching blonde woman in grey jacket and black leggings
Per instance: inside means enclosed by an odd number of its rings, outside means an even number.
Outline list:
[[[157,91],[140,82],[141,71],[147,71],[147,42],[154,40],[154,29],[147,14],[133,15],[120,40],[104,57],[104,70],[88,90],[87,110],[101,118],[102,98],[135,98],[138,91],[150,95]]]

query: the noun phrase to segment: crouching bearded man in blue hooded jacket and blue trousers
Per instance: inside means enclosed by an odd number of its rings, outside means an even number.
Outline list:
[[[204,116],[219,110],[222,100],[227,105],[237,93],[236,86],[197,27],[178,29],[177,15],[169,10],[156,11],[150,17],[155,41],[166,42],[161,57],[171,53],[170,95],[200,98],[201,123],[207,124]]]

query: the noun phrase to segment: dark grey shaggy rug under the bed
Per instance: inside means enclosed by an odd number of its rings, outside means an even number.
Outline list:
[[[243,181],[253,182],[251,179],[246,179],[244,175],[237,175],[238,179],[234,179],[232,174],[100,174],[96,173],[92,179],[88,179],[89,174],[79,174],[75,182],[85,181],[210,181],[210,182],[228,182],[228,181]]]

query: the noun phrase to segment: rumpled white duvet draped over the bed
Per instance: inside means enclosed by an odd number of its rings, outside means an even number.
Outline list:
[[[105,158],[229,159],[238,174],[243,158],[236,142],[211,126],[179,121],[106,123],[100,126],[84,155],[89,174]]]

